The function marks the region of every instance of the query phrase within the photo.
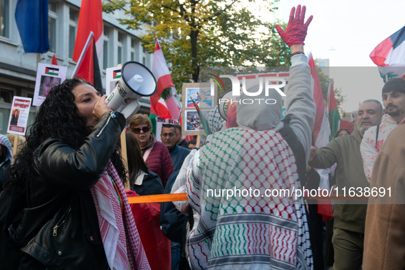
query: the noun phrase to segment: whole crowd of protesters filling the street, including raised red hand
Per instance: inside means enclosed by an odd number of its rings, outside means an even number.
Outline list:
[[[0,136],[0,269],[404,269],[405,79],[384,84],[383,104],[360,103],[354,132],[317,149],[305,13],[298,5],[286,29],[276,26],[292,53],[284,119],[280,94],[261,91],[276,103],[237,103],[227,120],[213,108],[202,146],[180,125],[155,135],[148,116],[112,112],[81,79],[53,87],[27,140],[9,137],[14,162]],[[328,168],[338,194],[391,188],[391,197],[336,199],[323,223],[308,194],[262,195],[317,189],[316,169]],[[261,196],[236,192],[249,189]],[[164,193],[188,201],[127,199]]]

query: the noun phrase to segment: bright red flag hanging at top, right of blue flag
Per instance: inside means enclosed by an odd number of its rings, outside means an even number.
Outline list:
[[[77,23],[75,50],[72,60],[77,62],[90,32],[94,33],[97,57],[103,49],[103,7],[101,0],[83,0]]]

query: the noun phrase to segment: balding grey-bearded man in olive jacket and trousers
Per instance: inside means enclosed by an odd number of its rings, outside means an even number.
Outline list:
[[[363,101],[358,108],[358,130],[347,136],[334,138],[317,149],[311,148],[308,165],[319,169],[332,167],[336,163],[336,188],[338,195],[348,196],[348,191],[369,188],[370,184],[363,171],[360,143],[366,130],[379,125],[382,118],[381,103],[374,99]],[[335,201],[334,233],[334,270],[361,269],[364,248],[365,218],[367,201]]]

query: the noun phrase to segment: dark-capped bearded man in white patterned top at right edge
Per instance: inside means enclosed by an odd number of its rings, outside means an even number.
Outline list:
[[[365,132],[360,151],[367,180],[371,182],[374,162],[391,131],[405,118],[405,79],[391,79],[382,88],[385,112],[381,125]]]

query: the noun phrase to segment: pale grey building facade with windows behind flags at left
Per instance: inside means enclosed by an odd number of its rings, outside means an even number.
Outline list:
[[[76,63],[73,49],[79,20],[79,0],[49,0],[49,51],[47,53],[25,53],[15,20],[16,0],[0,0],[0,134],[7,131],[12,99],[34,97],[37,63],[51,64],[53,52],[58,64],[67,67],[66,78],[71,78]],[[151,69],[152,56],[142,46],[140,30],[126,29],[117,18],[124,19],[125,10],[114,14],[103,13],[103,51],[99,57],[103,89],[106,89],[106,68],[136,61]],[[146,25],[147,26],[147,25]],[[140,99],[140,112],[149,114],[150,100]],[[32,107],[28,125],[34,123],[37,108]]]

